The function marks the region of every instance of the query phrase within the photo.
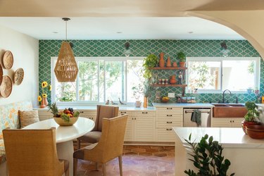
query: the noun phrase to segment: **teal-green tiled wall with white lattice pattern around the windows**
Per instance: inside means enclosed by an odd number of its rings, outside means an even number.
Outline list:
[[[51,57],[58,56],[61,47],[61,40],[39,40],[39,84],[42,81],[51,82]],[[124,56],[125,40],[71,40],[74,44],[73,52],[76,57],[99,57],[99,56]],[[184,51],[188,57],[220,57],[220,40],[130,40],[130,56],[147,56],[148,54],[156,54],[158,56],[161,51],[165,53],[165,58],[170,56],[175,61],[178,51]],[[231,57],[258,57],[258,52],[246,40],[230,40],[225,41],[228,49],[230,49]],[[260,61],[260,94],[264,93],[264,64]],[[158,75],[163,75],[163,71]],[[159,76],[158,76],[159,77]],[[159,87],[157,90],[166,95],[168,92],[181,93],[181,88],[177,87]],[[39,90],[40,91],[40,90]],[[51,101],[50,94],[48,95]],[[149,105],[155,100],[155,92],[149,97]],[[222,94],[187,94],[187,96],[195,96],[199,102],[217,102],[222,99]],[[254,94],[232,94],[227,95],[230,102],[234,102],[238,97],[239,102],[255,101]],[[172,101],[174,101],[172,99]]]

